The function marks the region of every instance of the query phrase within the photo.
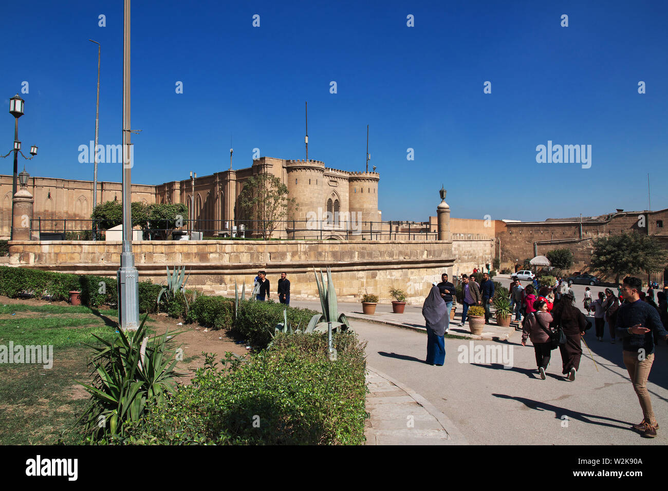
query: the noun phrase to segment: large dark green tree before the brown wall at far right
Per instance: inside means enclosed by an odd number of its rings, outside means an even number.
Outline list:
[[[656,238],[643,234],[622,233],[594,240],[589,266],[606,275],[651,273],[663,269],[668,262],[666,251]]]

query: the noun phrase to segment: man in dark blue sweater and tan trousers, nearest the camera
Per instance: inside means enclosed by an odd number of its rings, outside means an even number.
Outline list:
[[[619,307],[615,333],[623,341],[624,365],[643,408],[643,421],[633,428],[653,438],[659,429],[647,391],[647,378],[654,362],[653,331],[667,340],[668,331],[663,328],[657,309],[640,299],[642,285],[639,278],[627,276],[624,279],[621,290],[626,302]]]

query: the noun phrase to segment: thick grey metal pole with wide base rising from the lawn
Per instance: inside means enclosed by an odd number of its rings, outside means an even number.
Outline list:
[[[118,317],[124,330],[139,327],[139,284],[132,253],[132,189],[130,170],[130,0],[125,0],[123,17],[123,247],[118,270]]]

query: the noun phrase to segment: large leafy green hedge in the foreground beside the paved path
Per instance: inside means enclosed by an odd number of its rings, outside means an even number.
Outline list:
[[[191,385],[126,426],[124,444],[359,445],[365,441],[364,346],[353,333],[279,335],[230,371]]]

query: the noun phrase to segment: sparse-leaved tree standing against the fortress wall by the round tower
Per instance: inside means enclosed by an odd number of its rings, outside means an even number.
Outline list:
[[[250,228],[259,230],[266,240],[282,220],[297,209],[295,198],[288,198],[288,188],[272,174],[257,174],[244,182],[239,204],[246,220],[257,220]]]

